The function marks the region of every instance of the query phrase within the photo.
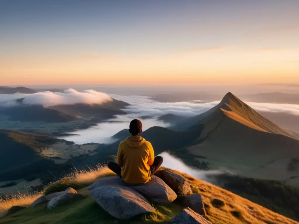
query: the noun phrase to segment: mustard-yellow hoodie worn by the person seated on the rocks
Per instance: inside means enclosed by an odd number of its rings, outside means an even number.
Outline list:
[[[129,184],[141,184],[150,180],[149,166],[154,162],[152,144],[141,136],[129,136],[120,142],[117,162],[120,165],[121,177]]]

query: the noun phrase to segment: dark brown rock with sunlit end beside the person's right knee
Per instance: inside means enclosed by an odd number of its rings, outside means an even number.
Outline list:
[[[159,170],[155,173],[155,176],[160,177],[178,195],[192,194],[188,181],[173,172]]]

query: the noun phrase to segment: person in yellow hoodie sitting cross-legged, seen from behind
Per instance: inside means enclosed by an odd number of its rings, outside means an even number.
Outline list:
[[[132,136],[119,144],[117,163],[109,162],[108,167],[127,184],[143,185],[161,166],[163,157],[155,157],[152,144],[139,136],[142,132],[140,120],[130,122],[129,132]]]

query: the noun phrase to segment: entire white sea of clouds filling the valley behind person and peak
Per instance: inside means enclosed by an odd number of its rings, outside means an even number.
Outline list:
[[[14,106],[17,104],[16,99],[20,98],[24,98],[23,103],[25,104],[41,104],[44,106],[75,103],[102,104],[111,101],[112,98],[130,104],[126,109],[123,109],[128,114],[118,115],[89,129],[71,133],[79,135],[64,137],[66,140],[76,142],[77,144],[89,142],[112,143],[117,139],[112,139],[111,137],[124,128],[128,128],[130,121],[135,118],[141,120],[144,131],[153,126],[169,127],[171,124],[159,120],[159,116],[172,113],[178,116],[192,117],[208,111],[219,103],[219,101],[202,102],[200,99],[190,102],[158,102],[148,96],[108,95],[95,90],[80,92],[68,89],[62,93],[45,91],[33,94],[0,94],[0,105]],[[246,103],[257,111],[290,113],[299,116],[299,105],[296,104]]]

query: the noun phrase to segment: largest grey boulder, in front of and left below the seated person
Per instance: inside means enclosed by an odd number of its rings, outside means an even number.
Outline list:
[[[105,211],[118,219],[154,211],[141,194],[126,186],[119,177],[103,177],[90,185],[88,190]]]

